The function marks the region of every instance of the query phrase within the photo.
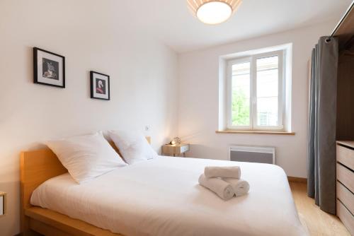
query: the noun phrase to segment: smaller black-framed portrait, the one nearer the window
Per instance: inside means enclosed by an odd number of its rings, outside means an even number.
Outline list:
[[[90,71],[91,98],[110,100],[110,76]]]

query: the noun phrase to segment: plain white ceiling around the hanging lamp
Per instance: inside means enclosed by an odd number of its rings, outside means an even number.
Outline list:
[[[243,0],[232,18],[220,25],[205,25],[198,21],[188,10],[185,0],[117,2],[120,6],[125,5],[125,13],[130,13],[130,23],[139,25],[140,29],[149,29],[176,52],[187,52],[326,20],[336,22],[351,0]]]

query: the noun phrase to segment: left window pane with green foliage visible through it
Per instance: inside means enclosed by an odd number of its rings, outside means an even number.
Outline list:
[[[250,62],[232,65],[232,126],[249,126]]]

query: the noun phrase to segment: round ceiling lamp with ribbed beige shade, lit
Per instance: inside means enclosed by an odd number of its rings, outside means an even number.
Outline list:
[[[241,2],[242,0],[187,0],[195,17],[209,25],[228,20]]]

